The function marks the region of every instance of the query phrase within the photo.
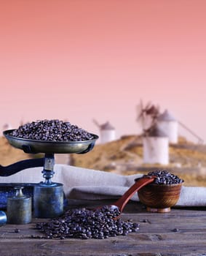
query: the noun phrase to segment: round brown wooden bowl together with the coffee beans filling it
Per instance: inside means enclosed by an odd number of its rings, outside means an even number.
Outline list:
[[[151,184],[138,191],[141,203],[147,211],[165,213],[175,206],[181,195],[183,180],[167,170],[157,170],[145,176],[156,176]]]

